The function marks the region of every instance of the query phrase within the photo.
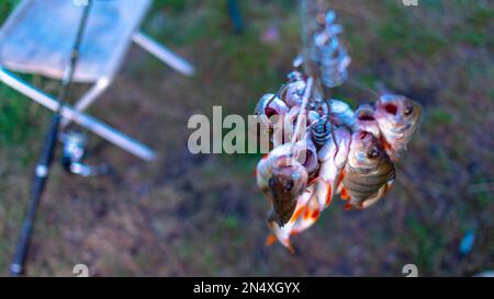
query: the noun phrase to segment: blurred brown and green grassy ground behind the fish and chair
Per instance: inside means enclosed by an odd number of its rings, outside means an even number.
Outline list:
[[[0,2],[0,22],[18,2]],[[224,115],[251,114],[301,49],[296,1],[238,0],[242,32],[226,2],[155,1],[144,31],[191,60],[198,74],[179,76],[133,47],[89,112],[154,147],[159,159],[143,162],[91,135],[89,161],[110,163],[112,175],[83,179],[54,164],[29,274],[71,276],[79,263],[96,276],[403,276],[409,263],[419,276],[494,269],[492,1],[328,1],[345,27],[351,78],[405,94],[424,113],[385,199],[364,211],[346,211],[335,199],[293,238],[294,255],[278,243],[265,246],[268,206],[254,176],[260,156],[187,149],[191,115],[212,115],[213,105]],[[23,78],[57,91],[56,81]],[[348,85],[335,97],[353,107],[370,100]],[[8,274],[49,118],[0,85],[0,275]]]

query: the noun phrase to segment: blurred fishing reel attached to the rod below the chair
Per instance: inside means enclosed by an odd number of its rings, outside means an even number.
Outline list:
[[[88,165],[83,163],[88,143],[86,135],[71,130],[61,134],[60,140],[64,142],[61,165],[67,172],[81,176],[96,176],[109,173],[110,169],[108,164]]]

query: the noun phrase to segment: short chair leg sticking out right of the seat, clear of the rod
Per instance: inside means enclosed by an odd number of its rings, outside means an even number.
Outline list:
[[[166,46],[157,43],[144,33],[135,33],[132,36],[132,41],[180,73],[184,76],[192,76],[195,72],[194,67],[189,61],[178,56]]]

